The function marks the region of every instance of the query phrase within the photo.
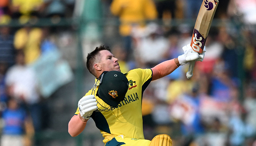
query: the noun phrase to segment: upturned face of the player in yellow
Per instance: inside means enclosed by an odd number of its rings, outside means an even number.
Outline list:
[[[118,64],[118,59],[114,57],[112,53],[108,50],[101,50],[100,52],[101,61],[98,65],[101,66],[102,71],[112,71],[116,70],[121,72],[120,66]]]

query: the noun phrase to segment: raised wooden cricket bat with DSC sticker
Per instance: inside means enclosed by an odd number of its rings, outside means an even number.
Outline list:
[[[204,45],[218,3],[218,0],[203,0],[203,3],[196,18],[196,24],[190,43],[190,46],[192,47],[194,52],[197,52],[199,54],[203,53]],[[193,76],[194,65],[195,61],[191,61],[189,64],[188,72],[186,74],[188,79]]]

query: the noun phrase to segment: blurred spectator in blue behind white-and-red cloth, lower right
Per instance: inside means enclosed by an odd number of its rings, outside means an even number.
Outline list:
[[[201,97],[199,84],[193,83],[191,91],[185,92],[170,106],[170,114],[181,122],[180,131],[190,143],[201,143],[205,127],[200,113]]]

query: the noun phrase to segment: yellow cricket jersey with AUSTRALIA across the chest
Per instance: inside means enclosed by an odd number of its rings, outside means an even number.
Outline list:
[[[118,108],[113,111],[93,112],[91,118],[97,128],[101,131],[104,143],[114,137],[123,135],[124,137],[144,139],[142,125],[142,95],[148,84],[152,80],[151,69],[133,69],[125,73],[129,81],[129,88],[123,101],[118,104]],[[95,80],[97,81],[97,79]],[[98,96],[96,96],[98,86],[95,90],[95,98],[98,101],[98,109],[108,107]],[[85,96],[91,95],[92,89]],[[102,105],[99,105],[99,103]],[[77,109],[76,115],[79,114]]]

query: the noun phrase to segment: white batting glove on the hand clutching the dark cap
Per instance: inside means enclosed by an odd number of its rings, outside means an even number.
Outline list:
[[[97,108],[98,108],[94,95],[87,95],[87,96],[82,97],[78,101],[78,108],[80,111],[80,115],[84,119],[90,119],[91,114],[93,114],[93,111],[97,110]]]

